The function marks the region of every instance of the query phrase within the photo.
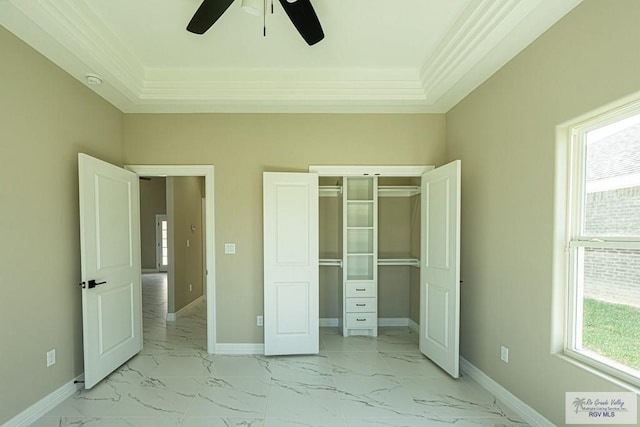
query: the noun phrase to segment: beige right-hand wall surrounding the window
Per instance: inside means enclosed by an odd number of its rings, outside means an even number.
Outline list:
[[[447,114],[462,356],[558,425],[566,391],[615,387],[551,354],[554,131],[640,89],[639,18],[636,0],[587,0]]]

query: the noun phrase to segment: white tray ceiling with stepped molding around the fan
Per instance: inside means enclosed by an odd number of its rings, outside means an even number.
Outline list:
[[[267,0],[269,3],[271,0]],[[446,112],[581,0],[311,0],[314,46],[278,0],[0,0],[0,24],[123,112]]]

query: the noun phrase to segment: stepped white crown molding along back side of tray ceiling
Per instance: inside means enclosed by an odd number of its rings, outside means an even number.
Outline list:
[[[424,102],[414,70],[157,70],[147,76],[144,100]]]

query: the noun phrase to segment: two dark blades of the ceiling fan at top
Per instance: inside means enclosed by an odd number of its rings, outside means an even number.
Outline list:
[[[187,25],[187,31],[204,34],[231,6],[231,3],[233,0],[203,0]],[[311,0],[280,0],[280,4],[309,46],[324,38],[322,26]],[[273,2],[271,7],[273,12]]]

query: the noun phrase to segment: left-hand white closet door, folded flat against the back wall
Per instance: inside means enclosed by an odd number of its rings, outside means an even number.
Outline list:
[[[265,172],[264,352],[319,351],[318,175]]]

